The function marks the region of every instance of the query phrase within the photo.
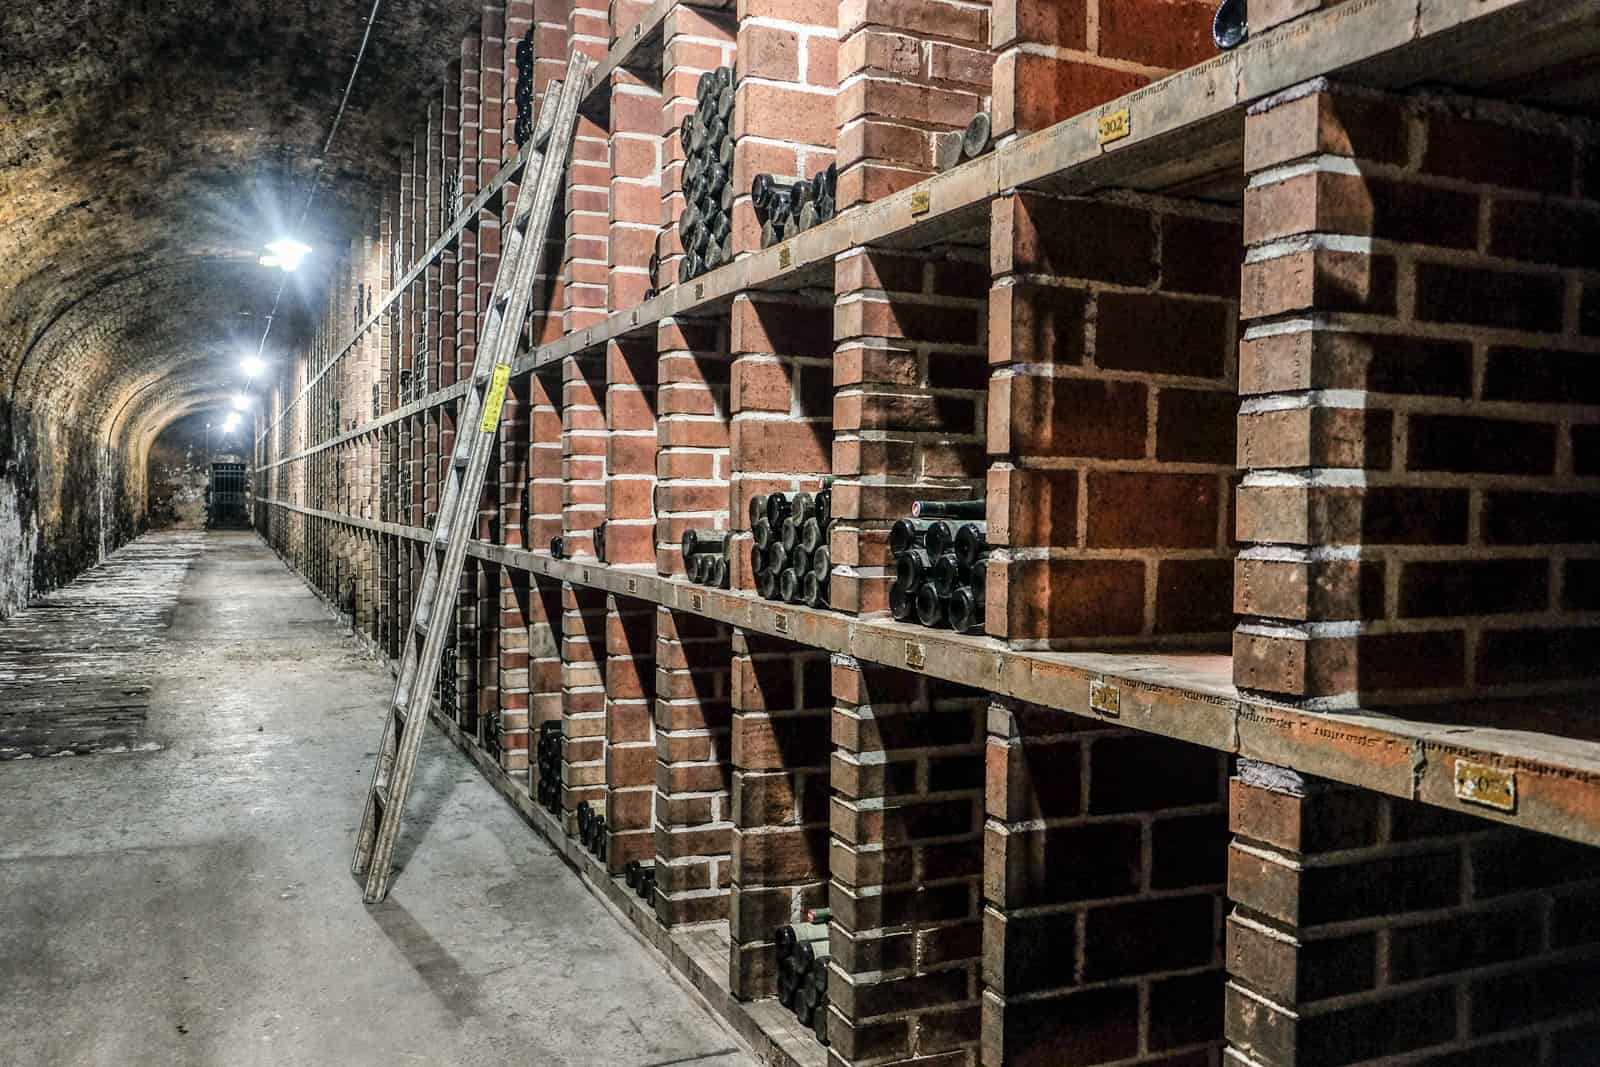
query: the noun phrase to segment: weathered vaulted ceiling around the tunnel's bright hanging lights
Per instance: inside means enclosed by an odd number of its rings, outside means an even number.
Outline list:
[[[0,6],[0,398],[117,429],[237,382],[371,0]],[[477,0],[384,0],[269,349],[410,144]],[[152,427],[139,427],[141,434]],[[158,427],[154,427],[158,429]]]

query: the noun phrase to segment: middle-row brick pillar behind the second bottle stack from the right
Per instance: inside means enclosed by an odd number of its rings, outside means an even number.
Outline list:
[[[813,301],[741,293],[730,330],[733,373],[733,589],[755,589],[750,498],[821,488],[832,470],[834,334]]]

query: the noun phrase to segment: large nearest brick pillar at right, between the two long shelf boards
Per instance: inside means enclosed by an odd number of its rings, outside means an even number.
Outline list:
[[[1376,705],[1592,685],[1584,130],[1323,82],[1246,117],[1242,689]]]

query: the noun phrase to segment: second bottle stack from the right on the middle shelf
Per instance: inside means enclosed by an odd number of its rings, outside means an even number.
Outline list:
[[[827,542],[834,523],[834,491],[771,493],[750,498],[750,563],[755,592],[768,600],[827,606],[834,558]]]

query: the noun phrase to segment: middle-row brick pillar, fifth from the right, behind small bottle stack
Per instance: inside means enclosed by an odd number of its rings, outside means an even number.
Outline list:
[[[728,526],[728,334],[715,318],[656,326],[656,569],[683,573],[683,531]]]

